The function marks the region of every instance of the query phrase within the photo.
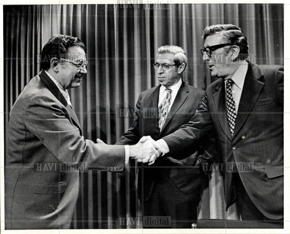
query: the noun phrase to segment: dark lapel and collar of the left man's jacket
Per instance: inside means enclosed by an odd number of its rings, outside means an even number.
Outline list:
[[[75,114],[74,110],[70,107],[70,105],[67,103],[66,99],[59,91],[59,88],[55,85],[55,83],[50,79],[50,77],[46,74],[44,70],[41,70],[41,72],[38,75],[40,79],[46,84],[50,92],[66,107],[73,122],[75,122],[75,125],[79,128],[81,135],[81,127],[77,115]]]

